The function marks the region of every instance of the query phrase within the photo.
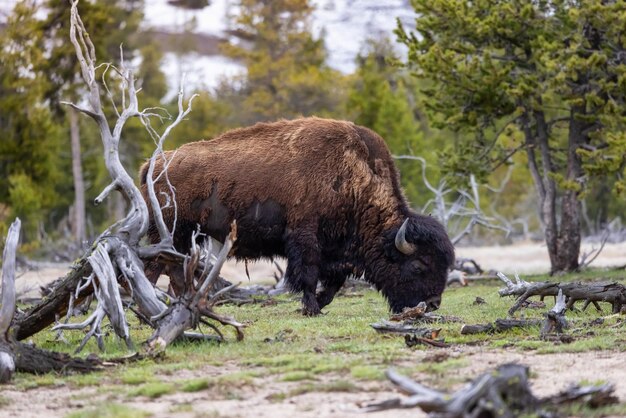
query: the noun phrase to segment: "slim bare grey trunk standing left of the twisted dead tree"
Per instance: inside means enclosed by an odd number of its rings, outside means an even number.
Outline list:
[[[75,109],[70,109],[68,113],[72,148],[72,175],[74,178],[74,219],[72,222],[72,233],[76,242],[82,247],[87,239],[87,222],[85,215],[85,181],[83,180],[83,166],[80,151],[80,130],[78,112]]]

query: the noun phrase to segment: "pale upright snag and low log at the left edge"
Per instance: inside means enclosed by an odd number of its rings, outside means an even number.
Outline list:
[[[16,219],[7,235],[2,256],[2,306],[0,307],[0,383],[11,380],[18,371],[29,373],[91,372],[99,370],[98,359],[72,358],[67,354],[41,350],[15,341],[11,322],[15,313],[15,253],[20,233],[20,220]]]

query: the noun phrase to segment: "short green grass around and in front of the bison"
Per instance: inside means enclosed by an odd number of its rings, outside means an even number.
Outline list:
[[[591,270],[558,278],[523,278],[528,281],[614,280],[626,283],[625,276],[624,271]],[[480,345],[483,350],[530,350],[537,354],[619,351],[616,355],[623,355],[626,350],[626,327],[619,322],[623,317],[607,318],[602,325],[587,325],[593,319],[608,315],[608,304],[601,304],[603,313],[596,312],[593,307],[586,312],[567,313],[571,325],[568,332],[575,339],[571,344],[542,341],[538,327],[493,335],[461,335],[463,323],[488,323],[507,317],[514,300],[501,298],[497,292],[501,287],[500,282],[489,281],[447,289],[437,313],[461,318],[462,322],[426,326],[441,328],[440,337],[452,346]],[[486,303],[473,305],[477,296]],[[384,380],[384,371],[389,367],[424,379],[438,388],[458,387],[462,382],[458,370],[469,367],[474,361],[474,357],[465,358],[462,354],[459,358],[423,361],[425,357],[443,351],[427,346],[407,348],[401,337],[377,334],[370,324],[388,318],[389,312],[383,298],[374,291],[364,291],[359,297],[338,297],[324,309],[325,315],[315,318],[303,317],[299,313],[297,297],[281,296],[278,300],[280,303],[267,306],[259,303],[217,308],[220,313],[232,315],[248,324],[244,330],[245,339],[241,342],[236,341],[232,330],[224,328],[227,340],[221,344],[181,342],[168,347],[163,359],[143,360],[87,375],[32,376],[18,373],[14,385],[22,390],[57,385],[70,388],[97,386],[99,393],[111,393],[121,399],[138,396],[156,398],[168,393],[204,390],[210,391],[211,396],[236,399],[241,396],[241,387],[263,385],[262,379],[269,377],[296,386],[271,396],[273,400],[280,401],[310,391],[351,391],[354,390],[354,382],[359,386],[359,381]],[[552,298],[547,298],[545,303],[543,309],[521,309],[516,317],[542,318],[554,302]],[[129,315],[129,321],[133,340],[139,345],[152,330],[138,324],[134,316]],[[108,331],[106,327],[105,331]],[[99,354],[101,357],[128,354],[112,332],[106,334],[107,351]],[[54,333],[44,331],[35,335],[33,340],[42,348],[71,352],[83,335],[81,332],[66,331],[69,344],[65,344],[50,342]],[[94,341],[87,344],[84,355],[90,352],[98,353]],[[203,374],[207,367],[229,372]],[[191,378],[176,379],[181,371],[187,376],[191,374]]]

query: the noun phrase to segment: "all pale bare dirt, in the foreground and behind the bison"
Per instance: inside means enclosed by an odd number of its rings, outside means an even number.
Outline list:
[[[588,246],[590,248],[590,246]],[[494,269],[520,274],[546,272],[549,262],[545,247],[539,244],[520,244],[511,247],[460,248],[457,255],[475,259],[484,269]],[[593,266],[623,266],[626,264],[626,243],[607,244]],[[284,264],[283,264],[284,265]],[[23,274],[17,281],[18,291],[36,295],[40,285],[66,273],[67,266],[47,265],[37,271]],[[275,267],[270,263],[249,265],[252,281],[271,281]],[[229,263],[223,269],[224,277],[247,282],[245,266]],[[601,379],[616,386],[616,395],[626,401],[626,355],[618,351],[591,351],[585,353],[536,354],[481,346],[461,346],[444,349],[450,357],[463,356],[466,364],[455,370],[457,377],[453,388],[478,374],[505,362],[531,365],[532,387],[535,393],[549,395],[565,389],[572,382]],[[440,352],[440,351],[438,351]],[[415,362],[424,360],[429,352],[414,352]],[[199,370],[183,370],[162,376],[163,380],[181,380],[220,376],[237,372],[236,365],[226,367],[206,366]],[[161,376],[159,376],[161,377]],[[437,386],[433,375],[414,375],[425,384]],[[357,383],[359,384],[359,383]],[[99,403],[122,403],[153,414],[154,417],[249,417],[273,418],[339,418],[357,416],[359,408],[368,403],[403,396],[389,382],[362,383],[362,392],[310,392],[285,399],[276,396],[289,393],[298,383],[280,382],[272,378],[255,378],[252,385],[237,388],[237,399],[225,399],[215,389],[195,393],[177,392],[157,399],[128,398],[124,394],[102,392],[97,386],[86,388],[44,386],[20,391],[8,386],[0,389],[0,396],[8,398],[8,405],[0,409],[1,416],[63,417],[68,413]],[[45,402],[43,401],[45,400]],[[391,410],[368,414],[372,418],[425,417],[417,409]]]

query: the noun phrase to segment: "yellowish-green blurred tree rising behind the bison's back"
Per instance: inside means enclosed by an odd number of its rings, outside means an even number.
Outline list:
[[[323,38],[311,34],[311,12],[308,0],[238,3],[232,31],[243,41],[224,53],[247,72],[230,83],[230,92],[218,93],[230,96],[240,124],[328,115],[341,103],[342,76],[325,63]]]

